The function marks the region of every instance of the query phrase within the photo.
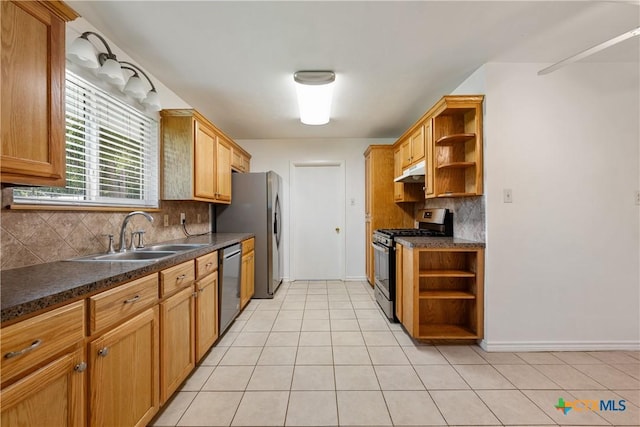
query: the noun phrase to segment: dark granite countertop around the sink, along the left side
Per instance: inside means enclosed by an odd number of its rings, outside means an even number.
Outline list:
[[[205,243],[197,249],[147,262],[57,261],[0,272],[0,322],[58,306],[155,273],[254,237],[251,233],[214,233],[158,243]]]

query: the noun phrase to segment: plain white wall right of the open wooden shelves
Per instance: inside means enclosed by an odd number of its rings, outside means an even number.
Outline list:
[[[486,94],[483,345],[639,348],[639,67],[547,65],[489,63],[461,85]]]

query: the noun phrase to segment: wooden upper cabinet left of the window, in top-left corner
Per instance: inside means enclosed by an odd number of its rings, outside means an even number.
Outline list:
[[[65,185],[65,22],[62,2],[2,2],[0,180]]]

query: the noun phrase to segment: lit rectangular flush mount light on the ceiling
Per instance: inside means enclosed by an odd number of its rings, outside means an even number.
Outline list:
[[[293,74],[298,95],[300,121],[306,125],[329,123],[333,82],[333,71],[298,71]]]

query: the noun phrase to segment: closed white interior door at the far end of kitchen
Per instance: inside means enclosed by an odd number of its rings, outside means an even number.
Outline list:
[[[294,280],[344,278],[344,194],[342,162],[291,164]]]

